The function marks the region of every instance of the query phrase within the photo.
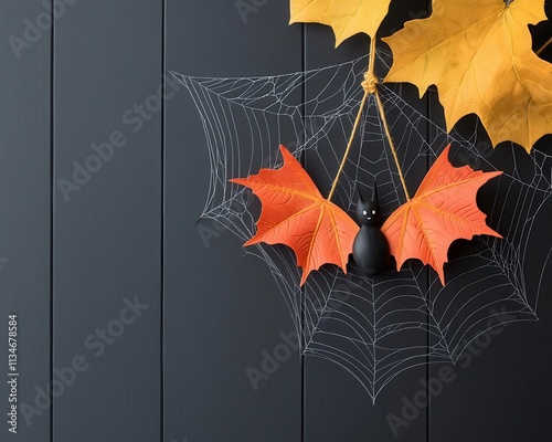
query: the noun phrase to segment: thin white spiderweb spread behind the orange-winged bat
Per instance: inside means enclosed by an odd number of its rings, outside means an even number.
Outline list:
[[[310,72],[250,78],[172,73],[190,92],[205,133],[211,178],[201,217],[223,222],[243,241],[252,238],[258,201],[229,180],[279,167],[280,144],[305,161],[327,192],[353,126],[367,64],[364,56]],[[378,64],[385,69],[385,55],[378,56]],[[477,127],[469,136],[449,135],[413,107],[418,103],[404,101],[401,86],[381,85],[381,95],[412,193],[427,165],[449,143],[456,165],[497,170],[498,154],[477,144]],[[245,249],[270,269],[301,337],[301,355],[338,364],[375,401],[410,368],[455,362],[473,339],[497,324],[497,317],[537,319],[538,291],[528,293],[523,263],[533,222],[552,193],[552,157],[508,147],[507,166],[500,164],[505,173],[482,189],[485,201],[492,202],[484,209],[488,223],[503,239],[477,236],[463,243],[461,253],[445,267],[445,287],[433,270],[411,261],[401,272],[373,278],[322,266],[301,288],[293,251]],[[530,164],[534,173],[521,177],[519,161],[523,170]],[[373,178],[386,217],[404,202],[404,193],[371,97],[333,202],[352,213],[357,186],[369,188]]]

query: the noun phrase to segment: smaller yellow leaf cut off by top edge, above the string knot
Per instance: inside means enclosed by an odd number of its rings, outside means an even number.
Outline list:
[[[336,48],[343,40],[364,32],[371,39],[389,11],[391,0],[290,0],[289,23],[328,24],[336,35]]]

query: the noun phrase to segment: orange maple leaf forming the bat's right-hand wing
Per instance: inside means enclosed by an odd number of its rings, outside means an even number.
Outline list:
[[[443,266],[453,241],[470,240],[476,234],[502,238],[485,223],[487,215],[476,203],[479,188],[502,172],[475,171],[469,166],[455,168],[448,161],[449,149],[450,145],[437,158],[414,198],[382,227],[397,270],[406,260],[418,259],[435,269],[443,285]]]

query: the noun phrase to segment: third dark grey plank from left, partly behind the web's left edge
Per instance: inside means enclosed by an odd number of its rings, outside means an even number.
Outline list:
[[[297,72],[300,43],[285,2],[167,3],[167,69],[184,75]],[[243,241],[213,221],[195,223],[211,167],[185,88],[167,102],[166,115],[166,440],[300,441],[297,350],[263,371],[265,351],[273,355],[285,345],[280,334],[294,332],[290,314],[269,269],[244,255]],[[247,122],[235,125],[251,130]],[[263,379],[252,381],[248,368]]]

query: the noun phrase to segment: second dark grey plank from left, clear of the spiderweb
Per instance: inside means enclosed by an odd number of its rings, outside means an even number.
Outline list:
[[[145,0],[55,23],[56,442],[160,440],[161,28]]]

